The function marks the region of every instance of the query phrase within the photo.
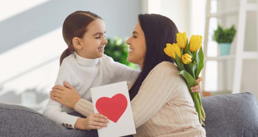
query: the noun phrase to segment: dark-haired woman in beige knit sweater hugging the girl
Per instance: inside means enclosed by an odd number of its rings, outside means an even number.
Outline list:
[[[206,136],[185,81],[177,74],[171,57],[164,53],[166,43],[176,43],[175,24],[157,14],[140,14],[138,21],[132,37],[126,41],[130,45],[127,60],[142,70],[128,85],[136,126],[134,136]],[[53,87],[51,99],[91,117],[93,104],[81,99],[70,84],[64,85],[68,88]],[[201,91],[200,84],[192,88]]]

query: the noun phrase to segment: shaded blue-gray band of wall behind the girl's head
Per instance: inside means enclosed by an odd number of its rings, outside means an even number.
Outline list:
[[[58,27],[74,11],[91,11],[106,23],[106,35],[129,37],[141,13],[140,0],[51,0],[0,22],[0,54]]]

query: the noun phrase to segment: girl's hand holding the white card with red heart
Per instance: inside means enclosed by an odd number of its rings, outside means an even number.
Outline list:
[[[107,127],[107,124],[103,124],[101,122],[109,123],[106,116],[98,113],[93,113],[89,114],[86,119],[78,118],[74,125],[74,128],[81,130],[92,130]]]

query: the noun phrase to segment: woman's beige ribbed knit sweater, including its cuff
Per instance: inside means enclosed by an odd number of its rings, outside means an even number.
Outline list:
[[[134,137],[206,136],[187,85],[172,63],[162,62],[150,71],[131,106]],[[77,102],[75,110],[86,117],[94,113],[93,104],[85,99]]]

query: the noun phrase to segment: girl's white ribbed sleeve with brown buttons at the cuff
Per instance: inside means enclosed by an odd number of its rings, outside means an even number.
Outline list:
[[[64,64],[64,65],[62,64],[60,66],[55,85],[64,86],[63,81],[66,81],[67,83],[70,83],[71,85],[73,85],[73,78],[74,78],[74,73],[72,68],[67,64]],[[67,128],[75,129],[74,125],[79,117],[72,116],[67,114],[66,112],[63,112],[62,107],[63,107],[62,104],[50,98],[46,106],[46,109],[43,112],[43,115],[55,121],[59,125],[63,125]]]

